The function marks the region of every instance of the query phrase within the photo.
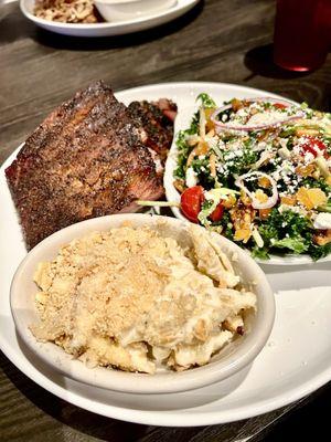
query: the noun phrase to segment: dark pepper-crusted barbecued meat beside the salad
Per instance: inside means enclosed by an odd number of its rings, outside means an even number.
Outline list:
[[[28,249],[89,218],[134,212],[164,193],[174,103],[119,103],[103,82],[57,107],[6,169]]]

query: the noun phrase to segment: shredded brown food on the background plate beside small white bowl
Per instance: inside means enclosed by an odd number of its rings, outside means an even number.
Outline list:
[[[62,23],[103,22],[92,0],[36,0],[34,15]]]

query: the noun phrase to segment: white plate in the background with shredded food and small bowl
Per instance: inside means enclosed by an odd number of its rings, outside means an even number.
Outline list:
[[[156,0],[158,1],[158,0]],[[164,11],[150,15],[135,18],[127,21],[103,22],[103,23],[61,23],[56,21],[44,20],[33,14],[34,0],[20,0],[20,7],[23,14],[38,27],[47,31],[64,35],[75,36],[106,36],[122,35],[131,32],[145,31],[158,27],[171,20],[183,15],[192,9],[199,0],[178,0],[177,4]]]

